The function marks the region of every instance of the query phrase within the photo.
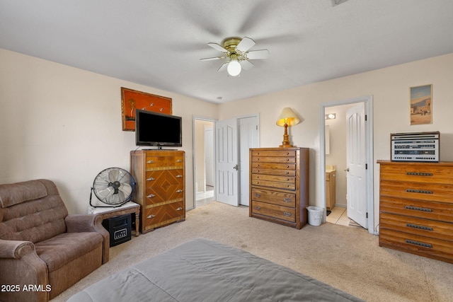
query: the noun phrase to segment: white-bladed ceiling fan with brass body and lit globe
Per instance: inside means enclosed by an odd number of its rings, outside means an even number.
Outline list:
[[[216,59],[224,59],[224,64],[220,66],[217,71],[228,71],[230,76],[239,76],[241,70],[251,69],[253,64],[249,62],[249,59],[268,59],[269,50],[250,50],[255,45],[250,37],[227,37],[223,40],[222,45],[217,43],[207,43],[214,50],[219,50],[224,55],[221,57],[212,57],[200,59],[201,61],[210,61]]]

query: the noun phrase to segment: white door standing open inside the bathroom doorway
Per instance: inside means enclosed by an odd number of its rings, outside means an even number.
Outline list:
[[[367,228],[367,155],[365,103],[346,111],[348,216]]]

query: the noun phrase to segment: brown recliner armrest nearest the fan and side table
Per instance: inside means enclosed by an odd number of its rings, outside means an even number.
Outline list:
[[[79,232],[97,232],[103,236],[103,260],[102,263],[108,262],[110,249],[110,234],[102,226],[102,216],[100,214],[70,214],[66,216],[66,231],[68,233]]]

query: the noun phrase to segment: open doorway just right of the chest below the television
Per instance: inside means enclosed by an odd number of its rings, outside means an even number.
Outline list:
[[[194,119],[194,207],[214,202],[214,120]]]

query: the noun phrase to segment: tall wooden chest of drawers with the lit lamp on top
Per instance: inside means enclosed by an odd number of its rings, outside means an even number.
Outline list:
[[[309,205],[309,149],[250,149],[249,216],[300,229]]]

